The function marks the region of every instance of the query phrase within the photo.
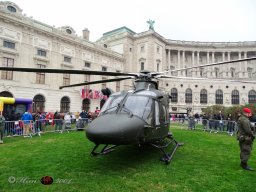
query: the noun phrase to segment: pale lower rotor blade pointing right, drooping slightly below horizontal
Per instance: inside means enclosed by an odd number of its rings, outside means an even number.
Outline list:
[[[182,80],[209,80],[209,81],[227,81],[227,82],[238,82],[238,83],[256,83],[256,81],[245,81],[239,79],[221,79],[221,78],[206,78],[206,77],[177,77],[177,76],[166,76],[160,75],[157,78],[169,78],[169,79],[182,79]]]

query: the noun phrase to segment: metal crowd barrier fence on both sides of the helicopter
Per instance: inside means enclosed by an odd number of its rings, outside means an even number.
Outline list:
[[[53,120],[36,120],[26,123],[22,120],[19,121],[5,121],[2,134],[3,137],[11,136],[32,136],[39,135],[45,132],[60,132],[72,131],[72,130],[84,130],[91,119],[79,118],[79,119],[53,119]],[[194,118],[175,118],[170,121],[170,124],[179,124],[181,128],[186,129],[201,129],[203,131],[209,131],[210,133],[227,132],[231,136],[237,132],[237,123],[235,121],[227,120],[206,120],[206,119],[194,119]],[[253,122],[254,126],[256,125]]]

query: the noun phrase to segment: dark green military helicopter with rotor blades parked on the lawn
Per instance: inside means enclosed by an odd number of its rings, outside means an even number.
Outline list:
[[[91,154],[93,156],[107,154],[113,151],[119,145],[145,145],[149,144],[159,149],[163,156],[161,158],[166,164],[172,160],[176,150],[183,143],[174,139],[173,134],[169,131],[169,100],[171,96],[158,89],[158,82],[161,78],[172,79],[202,79],[211,81],[232,81],[243,83],[256,83],[256,81],[240,81],[227,79],[210,79],[210,78],[186,78],[178,76],[165,75],[169,72],[182,71],[193,68],[202,68],[227,63],[243,62],[255,60],[256,57],[231,60],[224,62],[199,65],[194,67],[181,68],[176,70],[167,70],[164,72],[141,71],[140,73],[121,73],[105,71],[83,71],[83,70],[66,70],[66,69],[42,69],[42,68],[10,68],[0,67],[0,70],[19,71],[19,72],[41,72],[41,73],[68,73],[68,74],[90,74],[90,75],[108,75],[124,76],[100,81],[83,82],[79,84],[61,86],[60,89],[91,85],[105,82],[122,81],[134,79],[134,89],[121,91],[110,94],[109,98],[103,105],[99,116],[89,123],[86,129],[87,138],[95,143]],[[97,152],[100,145],[103,148]],[[169,145],[173,149],[167,152]]]

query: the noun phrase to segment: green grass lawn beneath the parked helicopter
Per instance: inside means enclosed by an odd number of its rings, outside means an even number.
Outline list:
[[[160,151],[151,147],[120,146],[92,157],[94,145],[83,131],[5,138],[0,145],[0,191],[256,190],[256,171],[239,167],[234,136],[177,126],[172,131],[184,146],[169,165],[160,162]],[[255,150],[249,164],[256,168]],[[42,185],[43,176],[51,176],[53,184]]]

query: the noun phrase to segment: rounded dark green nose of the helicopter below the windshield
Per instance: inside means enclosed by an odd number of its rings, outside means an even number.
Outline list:
[[[145,122],[128,114],[106,114],[89,123],[87,138],[95,144],[135,144],[143,135]]]

